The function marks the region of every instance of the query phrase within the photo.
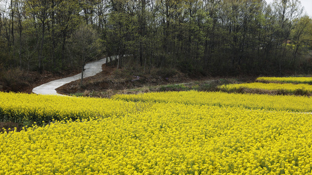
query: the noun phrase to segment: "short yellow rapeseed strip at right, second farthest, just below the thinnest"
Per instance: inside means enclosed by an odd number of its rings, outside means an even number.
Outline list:
[[[296,92],[298,90],[312,92],[312,85],[308,84],[279,84],[279,83],[242,83],[242,84],[229,84],[219,87],[225,91],[236,90],[239,88],[259,89],[259,90],[284,90],[286,92]]]

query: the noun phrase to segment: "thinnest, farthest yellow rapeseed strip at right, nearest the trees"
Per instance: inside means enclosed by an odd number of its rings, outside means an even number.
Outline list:
[[[312,77],[258,77],[257,81],[312,84]]]

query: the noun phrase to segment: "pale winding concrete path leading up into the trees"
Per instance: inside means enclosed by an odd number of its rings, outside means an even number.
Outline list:
[[[86,77],[90,77],[90,76],[94,76],[97,73],[102,71],[102,65],[106,63],[106,59],[107,58],[103,58],[100,59],[98,61],[95,62],[91,62],[88,63],[84,66],[84,72],[83,72],[83,78]],[[112,60],[117,59],[118,56],[112,56]],[[108,59],[108,61],[110,61]],[[61,95],[58,94],[57,91],[55,90],[56,88],[59,88],[67,83],[70,83],[72,81],[76,81],[79,80],[81,78],[81,73],[75,75],[75,76],[71,76],[71,77],[67,77],[67,78],[62,78],[59,80],[53,80],[50,81],[49,83],[40,85],[39,87],[33,88],[33,92],[36,94],[41,94],[41,95]]]

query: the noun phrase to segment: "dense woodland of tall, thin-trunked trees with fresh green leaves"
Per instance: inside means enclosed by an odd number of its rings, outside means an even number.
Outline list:
[[[218,74],[312,71],[312,19],[298,0],[0,0],[0,68]]]

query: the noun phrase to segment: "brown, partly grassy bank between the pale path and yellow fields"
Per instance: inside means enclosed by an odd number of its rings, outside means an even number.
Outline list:
[[[60,94],[110,98],[117,93],[141,93],[151,91],[202,90],[215,91],[217,86],[254,80],[254,77],[209,77],[200,72],[182,73],[175,69],[151,71],[119,69],[113,64],[102,65],[103,71],[93,77],[74,81],[57,88]],[[144,73],[143,73],[144,72]]]

